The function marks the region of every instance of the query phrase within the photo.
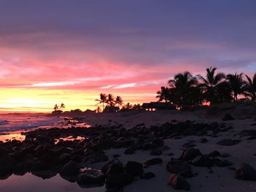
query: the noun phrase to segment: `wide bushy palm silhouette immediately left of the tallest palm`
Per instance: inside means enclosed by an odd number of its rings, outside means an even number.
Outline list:
[[[168,81],[170,88],[175,88],[177,107],[182,108],[192,105],[189,103],[191,101],[189,95],[192,95],[192,88],[196,87],[197,83],[197,77],[193,77],[189,72],[178,73],[174,76],[173,80]]]

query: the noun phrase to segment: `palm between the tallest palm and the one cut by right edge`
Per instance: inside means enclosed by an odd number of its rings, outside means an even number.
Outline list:
[[[243,73],[227,74],[227,82],[233,94],[233,101],[238,101],[238,95],[245,91],[245,82],[243,80]]]

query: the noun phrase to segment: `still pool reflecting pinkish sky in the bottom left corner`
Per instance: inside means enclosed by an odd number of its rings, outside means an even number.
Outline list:
[[[80,188],[77,183],[69,183],[57,174],[49,180],[42,180],[33,174],[23,176],[12,174],[7,180],[0,180],[0,191],[3,192],[103,192],[105,186],[97,188]]]

